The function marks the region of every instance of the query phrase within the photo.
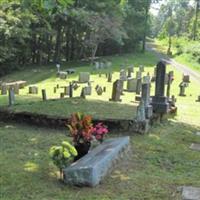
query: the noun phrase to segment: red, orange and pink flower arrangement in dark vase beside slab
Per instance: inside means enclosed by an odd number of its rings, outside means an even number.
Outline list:
[[[92,141],[97,140],[101,143],[105,134],[108,133],[108,129],[103,123],[98,123],[94,126],[92,124],[92,117],[82,113],[73,113],[67,126],[73,137],[78,155],[80,154],[75,160],[87,154]],[[82,147],[80,148],[80,146]]]

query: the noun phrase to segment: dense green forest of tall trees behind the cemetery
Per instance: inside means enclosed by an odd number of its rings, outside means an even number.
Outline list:
[[[157,4],[155,16],[150,9]],[[175,45],[177,54],[200,62],[199,7],[199,0],[1,0],[0,75],[24,65],[144,52],[147,37],[165,40],[168,55]]]

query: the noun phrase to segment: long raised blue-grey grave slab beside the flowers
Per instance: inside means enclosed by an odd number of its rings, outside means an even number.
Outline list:
[[[64,170],[65,183],[90,187],[98,185],[128,148],[129,137],[106,140]]]

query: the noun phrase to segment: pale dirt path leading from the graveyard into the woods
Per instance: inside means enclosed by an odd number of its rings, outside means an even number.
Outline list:
[[[190,75],[190,77],[192,79],[195,79],[200,84],[200,73],[192,70],[191,68],[187,67],[186,65],[176,62],[174,59],[169,58],[167,55],[158,52],[156,50],[156,48],[151,44],[147,45],[147,50],[153,51],[159,59],[164,60],[166,63],[172,65],[174,68],[181,71],[183,74]]]

